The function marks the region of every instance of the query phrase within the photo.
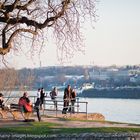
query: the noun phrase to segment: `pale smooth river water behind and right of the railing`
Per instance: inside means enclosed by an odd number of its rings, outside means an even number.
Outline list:
[[[36,91],[29,91],[28,93],[31,96],[36,96]],[[14,95],[21,96],[22,92],[14,92]],[[63,100],[63,92],[59,92],[58,100]],[[140,99],[80,97],[79,101],[88,102],[88,113],[101,113],[108,121],[140,124]],[[85,112],[85,104],[80,104],[79,110]]]

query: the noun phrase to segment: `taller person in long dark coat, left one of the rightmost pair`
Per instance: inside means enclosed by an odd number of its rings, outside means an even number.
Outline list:
[[[64,90],[64,96],[63,96],[64,105],[63,105],[62,114],[67,113],[67,110],[69,108],[69,103],[71,101],[71,93],[72,93],[71,86],[68,85],[67,88],[65,88],[65,90]]]

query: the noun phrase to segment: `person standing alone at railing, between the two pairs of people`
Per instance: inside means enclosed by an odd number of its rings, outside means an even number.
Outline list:
[[[56,100],[57,95],[58,95],[58,90],[56,87],[54,87],[53,90],[50,92],[50,97],[54,103],[54,107],[56,110],[57,110],[57,100]]]

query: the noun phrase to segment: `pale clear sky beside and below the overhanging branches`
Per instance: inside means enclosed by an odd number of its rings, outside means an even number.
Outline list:
[[[65,65],[136,65],[140,64],[140,0],[99,0],[94,29],[83,27],[85,53],[76,52]],[[12,66],[46,67],[61,65],[56,46],[51,45],[38,57],[12,58]],[[53,57],[52,57],[53,54]]]

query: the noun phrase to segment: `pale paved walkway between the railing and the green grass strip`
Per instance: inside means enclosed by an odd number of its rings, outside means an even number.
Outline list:
[[[59,116],[59,115],[58,115]],[[36,117],[33,117],[37,121]],[[58,124],[56,127],[63,128],[94,128],[94,127],[127,127],[127,128],[140,128],[140,125],[135,124],[126,124],[126,123],[111,123],[106,121],[72,121],[64,119],[64,115],[59,117],[42,117],[43,122],[52,122]],[[61,126],[59,125],[61,124]],[[29,123],[24,122],[23,120],[12,120],[11,119],[0,119],[0,127],[15,127],[15,126],[27,126]]]

